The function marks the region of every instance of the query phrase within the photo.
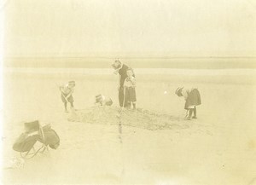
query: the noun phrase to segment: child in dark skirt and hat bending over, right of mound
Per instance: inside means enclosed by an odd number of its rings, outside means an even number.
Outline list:
[[[175,94],[177,96],[183,96],[185,99],[185,109],[189,111],[189,119],[197,119],[196,117],[196,106],[201,105],[201,95],[199,90],[192,88],[192,89],[184,89],[184,88],[177,88]],[[192,113],[194,116],[192,117]]]

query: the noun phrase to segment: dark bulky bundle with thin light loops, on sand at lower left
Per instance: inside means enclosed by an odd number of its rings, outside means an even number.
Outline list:
[[[41,127],[38,120],[25,123],[23,132],[15,141],[13,149],[20,152],[21,157],[29,159],[34,157],[39,151],[44,152],[48,146],[56,149],[60,146],[60,137],[55,130],[51,129],[50,124]],[[36,142],[41,142],[42,147],[35,150]]]

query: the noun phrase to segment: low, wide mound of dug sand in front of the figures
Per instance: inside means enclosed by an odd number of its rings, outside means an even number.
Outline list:
[[[185,129],[183,119],[167,114],[154,113],[152,111],[137,109],[121,111],[119,107],[90,107],[78,110],[68,115],[68,121],[87,124],[109,124],[137,127],[147,130],[172,130]]]

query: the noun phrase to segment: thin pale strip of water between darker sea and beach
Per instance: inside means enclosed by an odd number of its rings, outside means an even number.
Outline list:
[[[180,69],[180,68],[135,68],[136,74],[167,74],[167,75],[256,75],[256,69]],[[3,73],[30,74],[61,74],[73,73],[84,75],[113,74],[112,68],[49,68],[49,67],[3,67]]]

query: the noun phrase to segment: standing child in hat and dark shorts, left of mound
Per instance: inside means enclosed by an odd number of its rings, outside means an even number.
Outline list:
[[[68,84],[60,86],[61,100],[64,103],[66,113],[68,113],[67,102],[70,102],[71,109],[73,109],[73,95],[72,94],[73,94],[75,85],[76,85],[75,81],[69,81]]]

